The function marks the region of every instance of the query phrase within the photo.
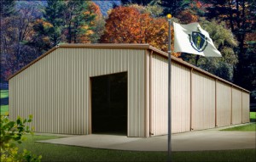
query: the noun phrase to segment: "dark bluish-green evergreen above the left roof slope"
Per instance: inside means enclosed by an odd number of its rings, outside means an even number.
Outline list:
[[[65,25],[65,8],[64,1],[48,0],[43,11],[43,18],[34,22],[33,30],[36,32],[32,42],[28,44],[36,47],[39,55],[61,42]]]

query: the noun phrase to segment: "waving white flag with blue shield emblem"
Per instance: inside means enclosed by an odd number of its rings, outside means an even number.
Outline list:
[[[174,51],[198,54],[205,57],[221,57],[220,52],[212,42],[209,33],[198,23],[180,25],[173,22]]]

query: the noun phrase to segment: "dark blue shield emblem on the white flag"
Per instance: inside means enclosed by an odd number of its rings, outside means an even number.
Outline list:
[[[192,31],[189,34],[191,46],[198,52],[203,52],[207,47],[207,36],[198,31]]]

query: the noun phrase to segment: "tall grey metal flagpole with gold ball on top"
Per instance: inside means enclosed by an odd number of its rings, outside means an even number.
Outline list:
[[[168,19],[168,159],[167,161],[172,161],[172,105],[171,105],[171,25],[172,25],[172,14],[167,14]]]

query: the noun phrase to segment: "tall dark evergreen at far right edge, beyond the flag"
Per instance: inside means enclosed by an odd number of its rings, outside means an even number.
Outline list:
[[[251,52],[247,52],[247,50],[251,50],[248,47],[247,38],[248,35],[255,35],[255,1],[249,0],[224,0],[217,1],[211,0],[206,1],[209,3],[209,7],[207,8],[207,18],[211,20],[212,18],[218,17],[219,21],[225,21],[226,24],[230,27],[231,31],[235,34],[236,39],[238,41],[238,47],[236,47],[236,51],[238,53],[238,64],[236,64],[234,81],[236,84],[241,87],[247,87],[247,83],[249,83],[252,87],[253,77],[250,79],[247,78],[247,81],[243,81],[245,78],[245,74],[247,73],[247,68],[245,64],[247,64],[248,58],[253,59],[253,56],[247,57],[247,54]],[[251,53],[253,54],[253,53]],[[254,59],[254,61],[256,61]],[[253,66],[251,66],[253,68]],[[253,69],[252,69],[253,70]],[[251,89],[253,90],[253,89]]]

